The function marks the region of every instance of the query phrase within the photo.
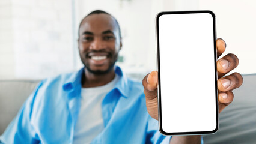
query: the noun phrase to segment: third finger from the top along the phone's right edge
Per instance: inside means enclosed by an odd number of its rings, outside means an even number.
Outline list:
[[[232,91],[239,88],[243,83],[243,77],[239,73],[233,73],[230,76],[222,77],[218,79],[217,85],[221,92]]]

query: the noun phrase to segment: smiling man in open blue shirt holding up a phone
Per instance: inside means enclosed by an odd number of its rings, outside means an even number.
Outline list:
[[[219,56],[225,42],[219,39],[217,44]],[[201,142],[200,136],[159,133],[157,72],[145,76],[143,88],[115,67],[122,43],[114,17],[99,10],[88,14],[79,26],[78,45],[85,67],[43,80],[0,137],[3,143]],[[218,61],[219,77],[237,65],[235,55],[224,56]],[[220,112],[233,100],[231,90],[241,84],[238,73],[219,79]]]

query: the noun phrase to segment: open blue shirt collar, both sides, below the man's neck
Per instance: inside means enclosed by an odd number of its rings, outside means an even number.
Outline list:
[[[85,73],[85,68],[81,68],[76,73],[73,73],[69,79],[67,79],[64,82],[63,90],[64,91],[74,91],[75,88],[81,89],[81,82],[82,82],[82,75]],[[125,74],[123,74],[123,71],[120,67],[115,66],[115,74],[118,74],[120,76],[120,80],[115,84],[114,89],[118,89],[118,91],[123,95],[124,97],[127,97],[129,94],[129,85],[128,80]]]

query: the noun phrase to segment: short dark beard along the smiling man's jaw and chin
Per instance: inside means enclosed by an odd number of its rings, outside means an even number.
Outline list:
[[[81,56],[80,56],[81,57]],[[112,70],[112,68],[114,67],[115,65],[115,62],[117,62],[117,58],[118,58],[118,53],[116,55],[112,55],[112,53],[109,53],[109,57],[111,58],[111,62],[109,64],[109,67],[107,68],[107,70],[92,70],[90,68],[90,64],[88,62],[83,61],[82,58],[82,63],[84,64],[85,68],[90,72],[90,73],[93,73],[93,74],[96,74],[96,75],[102,75],[102,74],[107,74],[109,73],[109,71]],[[85,59],[88,58],[88,54],[85,55]]]

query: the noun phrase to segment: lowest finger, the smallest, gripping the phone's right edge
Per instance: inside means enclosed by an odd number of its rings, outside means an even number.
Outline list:
[[[227,107],[234,99],[234,94],[232,91],[219,93],[219,113]]]

